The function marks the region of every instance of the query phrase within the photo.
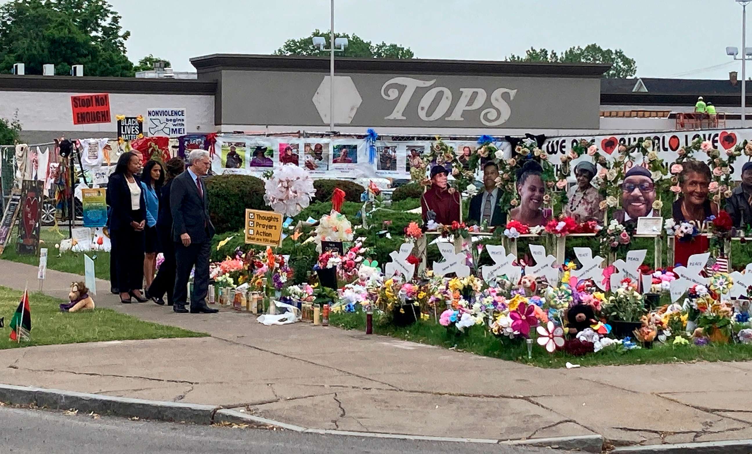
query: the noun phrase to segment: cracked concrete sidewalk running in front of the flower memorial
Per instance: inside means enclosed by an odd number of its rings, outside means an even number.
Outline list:
[[[2,260],[23,290],[35,266]],[[79,278],[47,270],[64,298]],[[750,362],[541,369],[250,314],[99,307],[211,337],[0,350],[0,383],[239,408],[309,428],[518,440],[602,434],[617,445],[752,438]],[[33,305],[33,302],[32,302]]]

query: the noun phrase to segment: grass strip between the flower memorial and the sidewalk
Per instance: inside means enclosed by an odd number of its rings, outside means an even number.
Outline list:
[[[365,314],[361,311],[353,313],[329,314],[329,324],[344,329],[359,329],[365,332]],[[444,326],[433,320],[419,321],[412,326],[399,328],[379,323],[374,314],[374,334],[389,335],[406,341],[421,344],[438,345],[439,347],[454,347],[457,351],[466,351],[493,358],[523,362],[544,368],[561,368],[566,362],[586,365],[626,365],[626,364],[657,364],[665,362],[695,362],[695,361],[747,361],[752,359],[752,345],[741,344],[708,344],[703,347],[695,345],[661,346],[658,342],[651,349],[617,350],[608,347],[598,353],[585,356],[572,356],[557,351],[550,354],[535,341],[532,346],[532,359],[527,358],[527,345],[524,341],[510,341],[505,338],[504,344],[481,326],[473,326],[465,334],[455,336],[449,334]]]

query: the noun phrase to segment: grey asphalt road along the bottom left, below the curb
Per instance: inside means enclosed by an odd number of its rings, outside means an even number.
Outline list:
[[[499,444],[443,443],[299,434],[252,428],[225,428],[169,422],[130,421],[114,417],[92,419],[45,410],[0,407],[0,452],[23,454],[172,454],[240,452],[299,454],[380,454],[457,452],[532,454],[553,449],[519,448]]]

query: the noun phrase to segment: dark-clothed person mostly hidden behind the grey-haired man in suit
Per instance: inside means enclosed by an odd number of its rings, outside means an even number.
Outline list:
[[[170,211],[170,188],[172,179],[183,173],[186,165],[181,158],[172,158],[165,163],[165,184],[159,196],[159,216],[156,219],[156,236],[159,239],[159,252],[165,260],[159,265],[156,278],[146,290],[146,297],[158,305],[164,305],[162,299],[167,294],[167,305],[172,305],[172,290],[175,287],[175,246],[172,239],[172,212]]]

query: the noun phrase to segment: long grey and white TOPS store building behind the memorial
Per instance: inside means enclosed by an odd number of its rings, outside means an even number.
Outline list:
[[[143,116],[145,135],[329,131],[329,60],[212,55],[196,80],[0,76],[0,117],[17,115],[26,143],[117,137],[116,116]],[[628,134],[670,131],[697,96],[738,127],[741,83],[605,80],[606,65],[338,59],[335,130],[405,136]],[[748,86],[752,94],[752,86]],[[109,95],[109,122],[74,125],[71,97]],[[752,96],[750,96],[752,101]],[[747,101],[747,102],[750,102]],[[752,102],[750,102],[752,105]],[[182,112],[177,128],[162,116]]]

